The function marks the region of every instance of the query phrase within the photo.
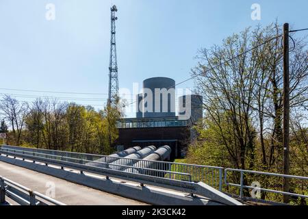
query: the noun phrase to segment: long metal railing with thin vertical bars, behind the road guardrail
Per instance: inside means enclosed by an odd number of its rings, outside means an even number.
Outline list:
[[[152,175],[154,177],[183,181],[202,181],[203,183],[211,185],[220,191],[222,190],[222,167],[161,162],[145,159],[131,159],[125,157],[118,158],[88,153],[30,149],[6,145],[1,146],[1,151],[18,153],[19,155],[32,155],[36,157],[50,158],[59,161],[61,160],[63,162],[73,162],[83,164],[85,166],[110,168],[114,170],[118,170],[118,167],[122,167],[120,169],[123,169],[124,171],[132,168],[134,170],[138,170],[138,172],[142,175]],[[138,166],[134,166],[136,163],[138,163]],[[142,168],[142,166],[149,166],[149,168]]]

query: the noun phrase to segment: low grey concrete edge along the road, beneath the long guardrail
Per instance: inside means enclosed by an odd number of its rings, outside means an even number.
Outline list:
[[[217,203],[205,198],[181,196],[172,192],[154,190],[146,185],[143,187],[128,185],[113,181],[112,179],[97,179],[75,172],[52,168],[42,164],[25,162],[10,157],[0,156],[0,161],[151,205],[223,205],[222,203]]]

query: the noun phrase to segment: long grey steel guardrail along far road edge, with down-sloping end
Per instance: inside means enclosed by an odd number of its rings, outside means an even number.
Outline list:
[[[19,151],[19,152],[18,152]],[[3,153],[3,155],[1,154]],[[83,159],[77,159],[72,157],[61,157],[59,155],[48,155],[43,153],[36,153],[36,152],[29,152],[29,151],[20,151],[15,149],[1,149],[0,150],[0,157],[5,156],[6,157],[14,157],[14,159],[23,159],[25,161],[25,166],[30,167],[29,162],[39,162],[40,165],[47,165],[52,166],[52,168],[61,167],[62,169],[70,168],[73,170],[79,170],[81,174],[84,172],[87,173],[94,173],[96,175],[103,175],[105,176],[106,180],[109,180],[110,177],[114,177],[116,179],[123,179],[125,181],[133,181],[140,183],[141,186],[146,185],[154,185],[158,186],[160,188],[166,188],[170,190],[177,190],[180,192],[185,192],[190,194],[190,196],[193,196],[193,194],[198,194],[207,198],[210,198],[212,201],[216,201],[218,203],[223,203],[226,205],[242,205],[240,202],[236,201],[234,198],[231,198],[229,196],[226,196],[222,192],[211,188],[209,185],[206,185],[205,183],[201,182],[194,182],[191,179],[191,175],[184,172],[173,172],[169,170],[155,170],[151,168],[139,168],[139,167],[132,167],[132,166],[125,166],[129,168],[136,168],[139,170],[142,170],[140,173],[135,172],[125,172],[123,170],[114,170],[112,168],[107,168],[109,165],[108,163],[102,163],[102,162],[96,162],[92,161],[91,163],[94,164],[105,164],[105,167],[101,166],[90,166],[84,164],[85,162],[88,162],[88,160]],[[11,159],[11,158],[10,158]],[[69,159],[70,161],[67,161]],[[0,159],[0,160],[7,160],[7,159]],[[21,160],[19,161],[19,164],[22,164]],[[27,164],[28,163],[28,164]],[[18,164],[17,164],[18,165]],[[53,166],[54,165],[54,166]],[[114,165],[114,164],[113,164]],[[120,164],[117,164],[120,165]],[[39,168],[42,172],[49,174],[49,171],[51,168],[44,168],[43,166]],[[37,170],[37,169],[36,169]],[[153,176],[153,172],[161,172],[162,175],[160,176]],[[147,175],[148,173],[149,175]],[[166,178],[164,175],[176,175],[177,177],[179,175],[187,177],[188,180],[179,180],[179,179],[172,179],[176,177],[169,177]],[[68,177],[66,175],[66,177]],[[63,179],[66,179],[64,177]],[[61,177],[60,177],[61,178]]]

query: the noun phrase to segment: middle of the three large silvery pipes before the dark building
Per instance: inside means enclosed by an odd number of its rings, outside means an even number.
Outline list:
[[[128,155],[126,157],[120,158],[116,160],[115,162],[111,162],[109,164],[109,168],[112,168],[114,170],[125,170],[127,167],[125,166],[133,166],[133,164],[136,163],[135,159],[142,159],[146,157],[147,155],[153,153],[156,150],[155,146],[146,146],[144,149],[141,149],[140,151],[137,151],[136,153],[132,153],[131,155]],[[123,165],[123,166],[120,166]]]

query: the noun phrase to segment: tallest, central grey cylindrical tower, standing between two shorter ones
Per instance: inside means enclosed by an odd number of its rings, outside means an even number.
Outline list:
[[[143,117],[175,116],[175,80],[152,77],[143,81]]]

